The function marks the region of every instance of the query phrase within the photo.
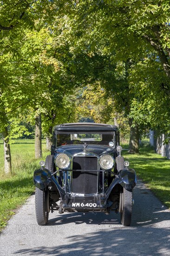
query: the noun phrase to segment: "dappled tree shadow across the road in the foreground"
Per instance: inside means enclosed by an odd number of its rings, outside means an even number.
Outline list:
[[[161,232],[163,232],[161,236]],[[69,233],[69,230],[67,230]],[[160,236],[157,236],[157,233]],[[108,255],[108,256],[153,256],[153,255],[169,255],[169,243],[167,241],[168,230],[151,229],[149,232],[147,229],[98,229],[93,233],[84,235],[68,236],[63,239],[62,244],[57,245],[57,240],[62,240],[62,234],[60,238],[56,235],[55,245],[49,247],[40,246],[31,249],[20,249],[14,253],[26,254],[26,255],[53,255],[53,256],[65,256],[65,255]],[[156,238],[157,236],[157,238]],[[135,237],[135,238],[134,238]]]

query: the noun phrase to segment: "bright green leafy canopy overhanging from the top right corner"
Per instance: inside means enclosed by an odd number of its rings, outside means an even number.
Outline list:
[[[107,39],[105,52],[114,50],[114,60],[140,60],[148,49],[156,51],[165,74],[170,78],[169,1],[91,1],[75,5],[73,26],[93,48]],[[77,22],[79,21],[80,24]],[[86,28],[86,31],[83,29]]]

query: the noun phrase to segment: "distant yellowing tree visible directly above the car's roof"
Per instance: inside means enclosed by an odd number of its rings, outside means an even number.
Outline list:
[[[78,87],[69,97],[74,101],[75,121],[110,123],[119,126],[121,138],[129,138],[130,129],[124,110],[118,113],[114,95],[101,87],[100,82]]]

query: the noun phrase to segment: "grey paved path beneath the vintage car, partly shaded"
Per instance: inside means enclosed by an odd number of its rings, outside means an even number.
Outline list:
[[[170,211],[138,181],[130,227],[119,214],[51,213],[38,226],[34,195],[0,236],[0,256],[170,256]]]

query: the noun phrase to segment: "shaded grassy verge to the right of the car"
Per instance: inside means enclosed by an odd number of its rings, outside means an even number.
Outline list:
[[[124,145],[124,148],[128,148],[128,145]],[[170,160],[156,154],[147,141],[142,143],[139,154],[131,155],[124,150],[123,155],[137,176],[170,208]]]

